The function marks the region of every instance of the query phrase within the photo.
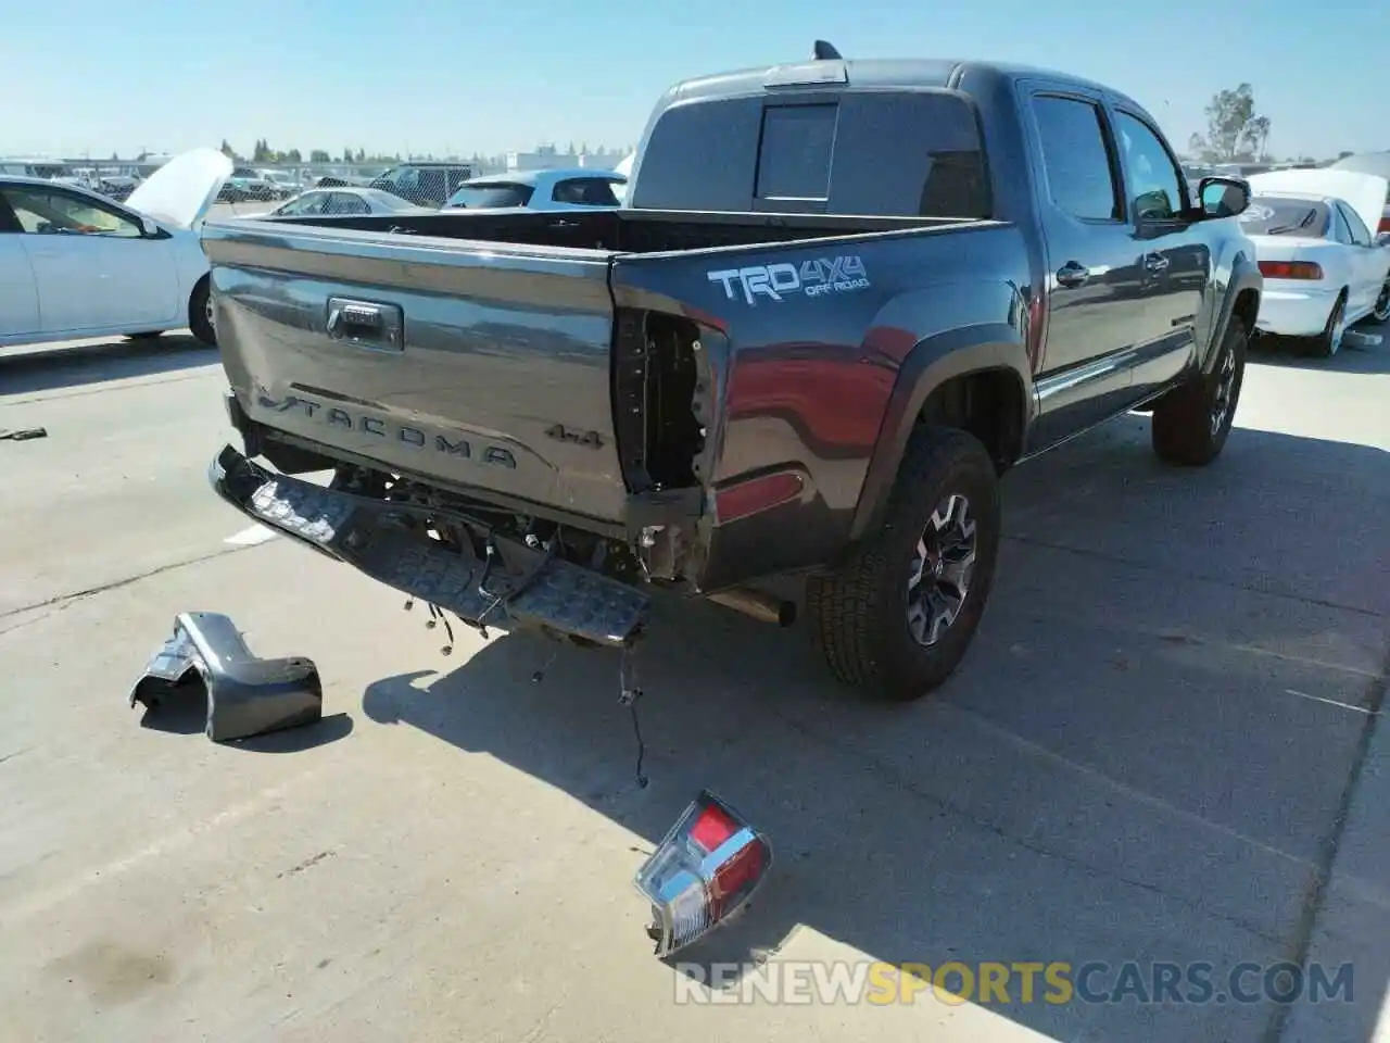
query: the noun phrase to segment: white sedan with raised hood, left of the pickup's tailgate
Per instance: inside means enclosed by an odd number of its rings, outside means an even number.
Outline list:
[[[195,149],[124,203],[0,177],[0,348],[183,328],[215,345],[199,229],[231,171]]]

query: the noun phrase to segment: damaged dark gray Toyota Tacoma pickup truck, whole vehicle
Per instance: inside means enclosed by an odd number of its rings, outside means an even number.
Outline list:
[[[816,54],[667,92],[619,210],[208,221],[220,495],[580,644],[631,645],[655,587],[785,624],[762,588],[803,573],[838,677],[940,686],[1006,469],[1136,409],[1162,459],[1220,453],[1248,189],[1193,199],[1097,83]]]

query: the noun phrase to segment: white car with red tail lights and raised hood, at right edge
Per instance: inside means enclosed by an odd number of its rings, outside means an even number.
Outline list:
[[[1347,327],[1390,320],[1390,234],[1380,223],[1386,178],[1346,170],[1255,174],[1237,218],[1255,245],[1265,293],[1255,328],[1341,348]]]

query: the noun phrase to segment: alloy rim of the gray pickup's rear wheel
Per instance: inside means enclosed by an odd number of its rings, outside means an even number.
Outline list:
[[[937,644],[959,617],[977,553],[970,501],[944,496],[917,537],[908,572],[908,630],[923,648]]]

